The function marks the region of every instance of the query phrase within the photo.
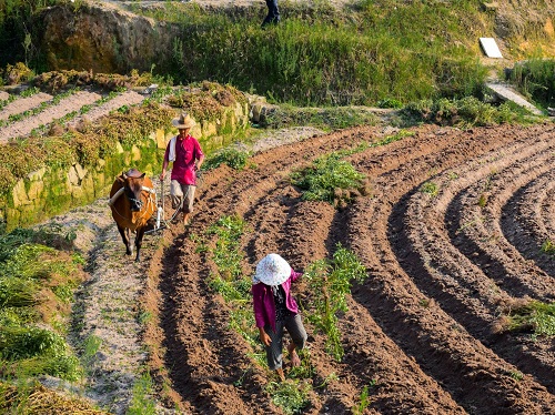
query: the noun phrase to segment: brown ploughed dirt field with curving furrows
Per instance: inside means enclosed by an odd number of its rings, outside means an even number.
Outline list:
[[[302,271],[331,257],[337,242],[366,267],[340,316],[341,363],[305,321],[311,382],[331,373],[339,379],[314,387],[304,413],[351,413],[370,384],[367,413],[555,413],[553,340],[493,330],[504,304],[555,296],[553,257],[539,252],[555,240],[555,125],[413,131],[349,158],[373,193],[341,210],[303,201],[289,175],[322,154],[383,138],[381,128],[310,138],[254,155],[255,169],[205,174],[192,225],[164,234],[149,271],[161,293],[157,341],[186,412],[281,413],[251,346],[229,328],[229,306],[206,284],[214,264],[191,237],[238,214],[249,226],[241,240],[248,275],[270,252]],[[420,191],[426,181],[435,196]],[[294,289],[301,301],[303,290]]]

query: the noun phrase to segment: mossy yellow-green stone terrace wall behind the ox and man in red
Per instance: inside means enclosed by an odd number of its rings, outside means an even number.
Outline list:
[[[198,121],[191,135],[199,139],[203,151],[210,154],[229,144],[249,126],[249,105],[235,102],[223,108],[213,121]],[[0,201],[0,221],[6,230],[28,226],[68,210],[105,198],[122,171],[135,168],[149,176],[158,176],[167,143],[176,130],[157,130],[139,145],[117,151],[107,159],[99,159],[93,166],[78,163],[68,169],[41,168],[17,182],[13,190]]]

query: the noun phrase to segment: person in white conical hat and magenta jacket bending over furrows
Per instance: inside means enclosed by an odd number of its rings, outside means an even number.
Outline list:
[[[269,254],[259,262],[252,279],[254,318],[260,340],[266,350],[268,366],[278,373],[281,381],[285,379],[282,367],[283,328],[291,336],[287,345],[291,366],[301,364],[295,351],[303,348],[306,342],[299,306],[290,293],[291,283],[301,275],[280,255]]]

